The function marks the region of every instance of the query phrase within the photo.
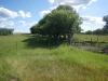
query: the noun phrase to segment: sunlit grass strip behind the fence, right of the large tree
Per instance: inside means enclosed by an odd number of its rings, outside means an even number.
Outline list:
[[[73,35],[75,41],[96,41],[95,46],[108,46],[108,36],[96,36],[96,35]],[[102,43],[100,43],[102,42]],[[89,43],[87,43],[89,44]]]

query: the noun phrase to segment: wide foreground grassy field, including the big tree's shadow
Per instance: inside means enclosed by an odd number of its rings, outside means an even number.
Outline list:
[[[40,36],[0,37],[0,81],[108,81],[108,55],[67,46],[49,49]]]

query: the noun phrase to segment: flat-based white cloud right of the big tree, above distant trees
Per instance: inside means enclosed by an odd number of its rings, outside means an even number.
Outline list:
[[[82,16],[84,24],[102,24],[104,25],[103,17]]]

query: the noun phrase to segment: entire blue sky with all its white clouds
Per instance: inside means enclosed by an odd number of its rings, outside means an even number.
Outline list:
[[[83,18],[83,31],[103,28],[103,17],[108,15],[108,0],[0,0],[0,28],[30,32],[29,28],[58,4],[75,8]]]

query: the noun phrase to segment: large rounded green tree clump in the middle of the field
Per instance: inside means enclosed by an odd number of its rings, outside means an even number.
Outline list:
[[[80,32],[82,19],[79,14],[70,5],[58,5],[51,13],[46,14],[38,25],[33,26],[38,29],[38,33],[49,35],[54,38],[60,36],[68,37],[68,44],[70,44],[70,38],[75,32]],[[36,30],[37,31],[37,30]]]

